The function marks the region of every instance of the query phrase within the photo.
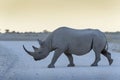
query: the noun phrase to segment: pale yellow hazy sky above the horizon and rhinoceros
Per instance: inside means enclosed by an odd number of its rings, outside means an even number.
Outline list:
[[[0,32],[61,26],[120,31],[120,0],[0,0]]]

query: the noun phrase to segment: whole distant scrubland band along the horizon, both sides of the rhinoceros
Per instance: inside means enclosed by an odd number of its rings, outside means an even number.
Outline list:
[[[44,30],[43,32],[15,32],[6,31],[0,34],[0,41],[36,41],[44,40],[51,32]],[[109,42],[120,42],[120,32],[105,32]]]

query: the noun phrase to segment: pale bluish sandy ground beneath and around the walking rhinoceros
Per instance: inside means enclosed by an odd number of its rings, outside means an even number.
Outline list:
[[[32,45],[39,46],[34,41],[1,41],[0,42],[0,80],[120,80],[120,53],[113,51],[116,44],[109,44],[109,51],[114,62],[111,66],[104,56],[98,67],[90,67],[94,61],[94,52],[84,56],[75,56],[75,67],[66,67],[68,60],[61,55],[56,68],[49,69],[53,53],[41,61],[34,61],[22,48],[25,45],[32,51]],[[9,64],[8,64],[9,63]]]

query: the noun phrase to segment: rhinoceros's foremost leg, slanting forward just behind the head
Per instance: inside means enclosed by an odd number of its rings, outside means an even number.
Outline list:
[[[54,64],[62,53],[63,53],[63,50],[61,49],[55,50],[54,56],[52,58],[51,63],[48,65],[48,68],[55,68]]]

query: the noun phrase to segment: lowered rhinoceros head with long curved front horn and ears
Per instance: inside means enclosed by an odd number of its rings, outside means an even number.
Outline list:
[[[49,50],[48,50],[47,46],[45,45],[45,42],[39,40],[39,44],[40,44],[40,48],[32,46],[34,49],[34,52],[28,51],[25,48],[25,46],[23,45],[23,49],[25,50],[25,52],[27,52],[29,55],[31,55],[35,61],[44,59],[49,54]]]

